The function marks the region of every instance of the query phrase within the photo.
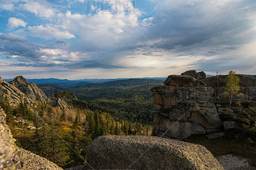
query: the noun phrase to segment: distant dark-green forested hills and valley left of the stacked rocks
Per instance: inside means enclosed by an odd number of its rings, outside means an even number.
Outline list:
[[[162,85],[161,80],[128,79],[101,84],[79,85],[65,90],[75,93],[79,100],[98,105],[114,117],[151,125],[153,122],[152,93],[150,89]],[[63,90],[57,85],[39,85],[48,95]]]

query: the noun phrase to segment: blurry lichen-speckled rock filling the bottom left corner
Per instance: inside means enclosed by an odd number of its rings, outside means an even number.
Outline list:
[[[58,165],[32,152],[18,148],[6,125],[6,113],[0,108],[0,169],[53,169]]]

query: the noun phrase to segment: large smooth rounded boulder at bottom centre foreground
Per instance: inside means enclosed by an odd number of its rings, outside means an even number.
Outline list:
[[[87,150],[94,169],[223,169],[205,147],[156,136],[100,136]]]

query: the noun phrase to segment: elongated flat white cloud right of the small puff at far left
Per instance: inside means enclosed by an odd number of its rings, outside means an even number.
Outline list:
[[[29,26],[28,30],[29,34],[38,38],[62,38],[62,39],[70,39],[75,38],[74,34],[70,34],[68,31],[64,30],[62,26]]]

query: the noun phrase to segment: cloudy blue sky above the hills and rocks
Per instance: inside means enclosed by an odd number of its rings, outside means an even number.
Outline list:
[[[255,0],[0,0],[0,76],[256,74]]]

